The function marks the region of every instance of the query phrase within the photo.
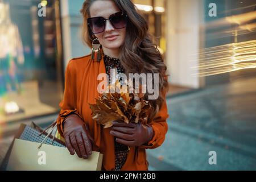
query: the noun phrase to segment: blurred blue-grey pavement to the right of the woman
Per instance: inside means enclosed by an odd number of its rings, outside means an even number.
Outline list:
[[[151,170],[256,170],[256,78],[168,98],[168,133]],[[210,165],[209,151],[217,164]]]

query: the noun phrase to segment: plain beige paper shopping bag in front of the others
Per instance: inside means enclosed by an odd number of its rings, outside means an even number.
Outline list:
[[[7,171],[100,171],[103,155],[94,152],[89,159],[70,155],[67,148],[15,139]]]

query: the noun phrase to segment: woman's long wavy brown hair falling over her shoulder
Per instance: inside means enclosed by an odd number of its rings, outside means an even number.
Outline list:
[[[90,6],[98,0],[86,0],[82,6],[81,13],[84,17],[82,26],[82,38],[84,42],[92,48],[92,40],[96,38],[89,30],[87,19],[90,18]],[[119,60],[126,71],[129,73],[159,73],[159,97],[156,100],[149,100],[154,107],[149,119],[159,111],[164,101],[163,93],[168,90],[166,75],[166,65],[163,56],[156,46],[155,38],[148,32],[148,25],[142,15],[138,13],[134,3],[130,0],[112,0],[119,10],[129,16],[127,23],[126,38],[120,47]],[[154,80],[153,80],[154,82]],[[148,94],[145,94],[147,97]]]

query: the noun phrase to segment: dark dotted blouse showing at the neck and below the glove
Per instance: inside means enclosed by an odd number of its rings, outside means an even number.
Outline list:
[[[125,70],[123,69],[119,59],[104,55],[104,63],[106,68],[106,74],[108,74],[109,78],[110,78],[110,69],[116,69],[117,73],[125,73]],[[109,84],[110,84],[110,81],[111,80],[109,79]],[[125,164],[126,162],[129,148],[121,143],[115,142],[115,137],[114,137],[114,144],[115,144],[115,171],[120,171],[123,164]]]

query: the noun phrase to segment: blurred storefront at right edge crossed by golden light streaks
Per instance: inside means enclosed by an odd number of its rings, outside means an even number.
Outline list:
[[[205,47],[200,61],[205,86],[256,77],[255,1],[205,0],[205,6],[211,2],[218,5],[218,15],[210,17],[205,9]]]

